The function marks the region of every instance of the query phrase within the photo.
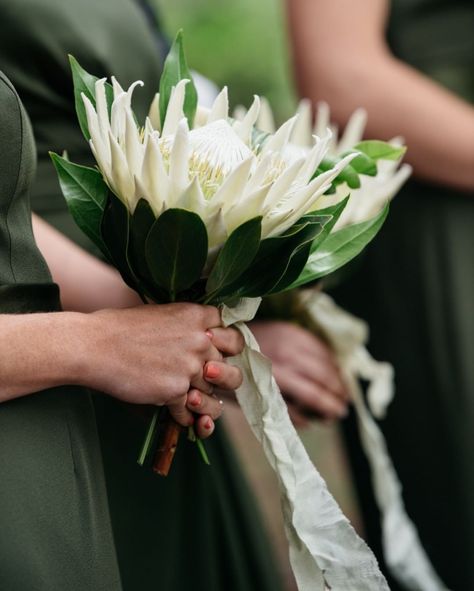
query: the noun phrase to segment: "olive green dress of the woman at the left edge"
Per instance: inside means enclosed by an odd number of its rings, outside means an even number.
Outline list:
[[[53,312],[31,228],[35,146],[0,72],[0,312]],[[47,338],[47,337],[46,337]],[[62,387],[0,404],[0,589],[120,591],[91,395]]]

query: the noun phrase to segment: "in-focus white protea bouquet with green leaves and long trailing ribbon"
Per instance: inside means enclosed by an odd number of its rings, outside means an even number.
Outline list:
[[[145,122],[132,110],[141,82],[123,90],[114,78],[111,84],[96,79],[73,57],[71,68],[79,124],[97,162],[90,168],[51,155],[74,219],[144,302],[221,306],[224,322],[243,333],[246,348],[234,360],[244,373],[237,396],[279,473],[300,589],[334,583],[343,555],[344,588],[361,588],[363,578],[366,589],[387,589],[370,550],[308,466],[268,361],[243,321],[252,318],[262,296],[315,281],[362,251],[388,206],[336,229],[349,197],[331,202],[331,195],[356,186],[364,175],[377,176],[378,160],[398,161],[404,148],[361,142],[328,159],[331,133],[325,131],[304,153],[288,157],[300,116],[275,133],[264,132],[256,127],[260,99],[238,121],[229,117],[225,88],[211,109],[199,107],[181,33]],[[272,421],[276,429],[268,428]],[[165,455],[175,448],[176,428],[155,414],[141,463],[154,453],[158,423],[172,433]],[[166,471],[158,455],[155,467]],[[302,473],[309,474],[304,491],[295,488]],[[322,499],[322,535],[304,523],[312,493]],[[339,554],[325,544],[340,548]]]

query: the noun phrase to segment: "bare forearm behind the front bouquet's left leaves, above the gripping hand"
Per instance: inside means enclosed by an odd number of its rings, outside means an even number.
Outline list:
[[[35,215],[33,229],[53,280],[61,288],[61,303],[65,310],[92,312],[139,303],[137,294],[124,284],[115,269],[79,248]]]

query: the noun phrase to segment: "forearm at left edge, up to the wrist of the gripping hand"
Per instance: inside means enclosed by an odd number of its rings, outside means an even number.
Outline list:
[[[79,382],[83,317],[0,315],[0,402]]]

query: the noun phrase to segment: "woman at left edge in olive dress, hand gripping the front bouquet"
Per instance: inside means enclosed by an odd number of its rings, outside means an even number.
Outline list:
[[[60,312],[33,237],[35,157],[29,120],[0,72],[0,589],[121,591],[86,388],[135,405],[167,404],[183,425],[194,420],[191,409],[207,437],[221,405],[206,393],[206,369],[219,370],[214,384],[234,389],[240,372],[221,353],[243,343],[210,306]]]

